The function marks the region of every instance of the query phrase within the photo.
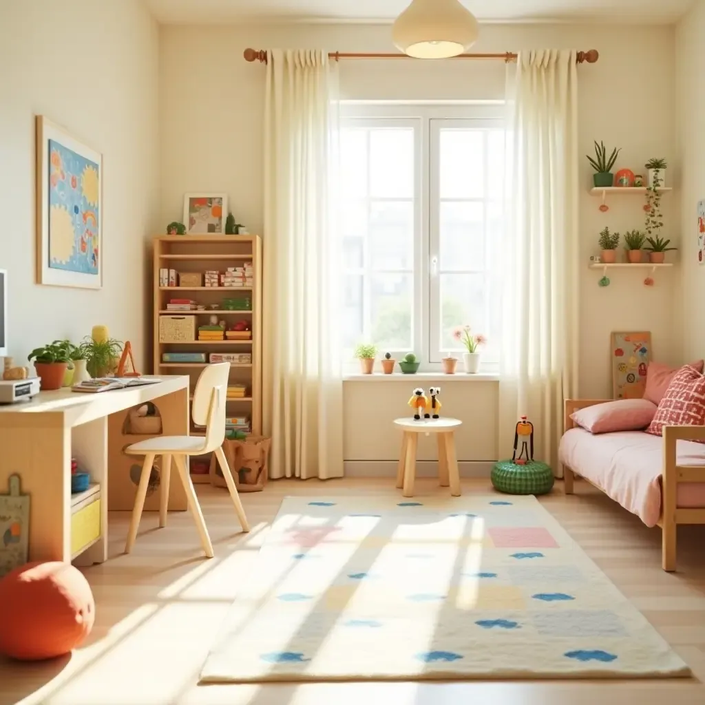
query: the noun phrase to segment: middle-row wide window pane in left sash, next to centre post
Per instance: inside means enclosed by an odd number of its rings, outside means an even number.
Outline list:
[[[372,202],[369,213],[369,252],[372,269],[413,269],[413,202]]]

